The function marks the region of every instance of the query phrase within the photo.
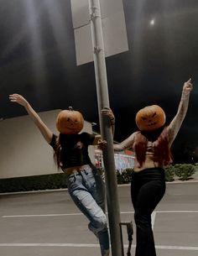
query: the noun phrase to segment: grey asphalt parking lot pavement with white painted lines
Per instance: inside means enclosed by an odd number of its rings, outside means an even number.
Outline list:
[[[158,256],[198,255],[198,175],[168,182],[152,215]],[[118,186],[122,222],[133,221],[130,185]],[[67,190],[0,195],[0,256],[100,256]],[[135,232],[135,227],[133,224]],[[124,255],[128,236],[122,227]],[[135,235],[131,253],[134,255]]]

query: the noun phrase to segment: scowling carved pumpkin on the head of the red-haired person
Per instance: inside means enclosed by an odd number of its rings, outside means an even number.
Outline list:
[[[158,105],[151,105],[140,109],[135,118],[140,131],[154,131],[165,123],[164,110]]]

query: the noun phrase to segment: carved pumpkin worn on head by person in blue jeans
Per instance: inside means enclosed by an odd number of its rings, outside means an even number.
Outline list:
[[[56,128],[60,133],[77,134],[81,132],[84,125],[84,118],[81,112],[73,110],[62,110],[56,118]]]

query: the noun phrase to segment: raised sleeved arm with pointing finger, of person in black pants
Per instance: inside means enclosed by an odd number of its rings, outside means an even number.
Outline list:
[[[169,126],[168,126],[169,146],[173,143],[177,133],[180,130],[181,124],[185,119],[185,115],[189,106],[189,97],[190,97],[190,91],[192,91],[192,87],[193,86],[190,78],[189,81],[186,81],[183,86],[178,111],[175,115],[175,118],[173,118],[173,120],[171,121],[171,123],[169,123]]]

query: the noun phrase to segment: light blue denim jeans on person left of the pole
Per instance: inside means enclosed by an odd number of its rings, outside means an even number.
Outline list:
[[[89,219],[89,229],[99,239],[102,256],[109,255],[109,236],[105,214],[105,189],[94,165],[69,175],[67,188],[72,200]]]

